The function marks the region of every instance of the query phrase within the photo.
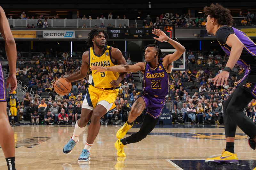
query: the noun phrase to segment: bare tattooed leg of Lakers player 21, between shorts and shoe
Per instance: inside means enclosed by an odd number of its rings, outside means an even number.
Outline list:
[[[145,101],[142,97],[139,97],[132,105],[132,110],[128,114],[128,122],[132,123],[136,120],[136,118],[142,113],[145,109]]]

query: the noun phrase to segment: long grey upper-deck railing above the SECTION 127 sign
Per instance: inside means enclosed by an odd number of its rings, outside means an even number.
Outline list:
[[[13,27],[26,27],[27,24],[29,26],[32,26],[34,24],[35,27],[37,27],[37,21],[38,19],[8,19],[9,25]],[[44,22],[44,19],[42,19]],[[111,24],[111,26],[115,25],[116,27],[119,26],[119,24],[126,24],[126,26],[129,26],[129,19],[47,19],[48,27],[82,27],[84,24],[87,27],[94,27],[95,25],[99,27],[101,23],[105,27],[108,26],[108,24]]]

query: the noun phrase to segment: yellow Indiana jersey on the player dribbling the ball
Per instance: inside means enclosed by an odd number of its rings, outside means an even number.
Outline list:
[[[101,55],[96,55],[94,49],[89,48],[89,65],[101,66],[101,67],[112,67],[116,66],[111,58],[111,47],[105,46]],[[119,77],[119,73],[112,71],[98,72],[94,74],[96,70],[92,70],[89,76],[89,83],[96,88],[112,88],[110,82],[116,80]]]

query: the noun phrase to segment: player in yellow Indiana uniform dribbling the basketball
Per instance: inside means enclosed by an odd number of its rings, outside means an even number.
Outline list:
[[[104,30],[94,29],[88,34],[87,43],[90,46],[89,51],[84,52],[82,56],[82,65],[80,70],[68,77],[70,82],[85,78],[87,71],[92,66],[111,67],[118,64],[127,65],[121,51],[106,45],[108,34]],[[90,160],[90,149],[94,139],[100,130],[100,118],[108,110],[116,107],[114,101],[118,94],[118,86],[123,80],[125,73],[116,73],[112,71],[98,72],[92,71],[89,77],[88,90],[82,105],[81,118],[76,122],[73,136],[64,146],[63,153],[69,154],[76,143],[79,141],[79,135],[85,130],[87,123],[92,118],[88,128],[88,136],[84,149],[78,158],[78,162]]]

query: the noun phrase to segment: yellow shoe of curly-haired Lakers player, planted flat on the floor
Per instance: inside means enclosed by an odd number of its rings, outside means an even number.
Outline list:
[[[238,159],[236,153],[231,153],[223,150],[222,154],[215,158],[207,158],[205,163],[208,163],[209,166],[221,167],[238,164]]]

